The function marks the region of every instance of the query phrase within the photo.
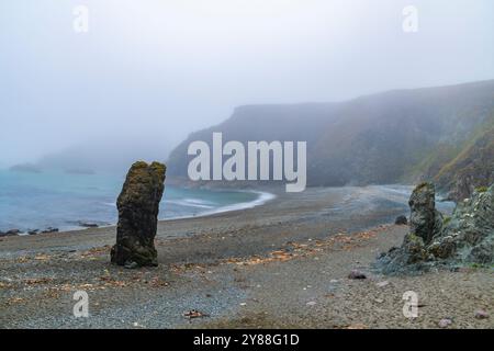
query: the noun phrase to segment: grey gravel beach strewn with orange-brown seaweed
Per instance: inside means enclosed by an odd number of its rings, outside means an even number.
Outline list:
[[[262,206],[160,222],[157,268],[112,265],[114,227],[1,238],[0,327],[437,328],[445,318],[449,328],[494,327],[492,268],[372,270],[408,230],[390,225],[407,214],[405,195],[385,186],[276,192]],[[367,279],[348,279],[351,270]],[[72,315],[79,290],[88,318]],[[418,295],[417,318],[403,315],[406,291]]]

